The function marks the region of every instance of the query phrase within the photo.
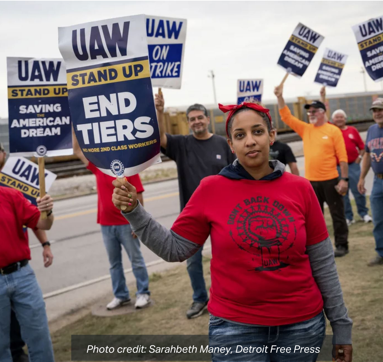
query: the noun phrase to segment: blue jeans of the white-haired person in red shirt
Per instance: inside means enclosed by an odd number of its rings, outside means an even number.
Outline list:
[[[338,172],[340,175],[339,166],[338,166]],[[347,194],[343,196],[344,213],[346,215],[346,219],[348,220],[354,219],[354,214],[352,212],[352,207],[351,207],[350,198],[349,198],[350,189],[352,194],[354,195],[355,203],[357,204],[357,210],[360,217],[363,219],[363,217],[368,214],[368,208],[366,207],[366,197],[358,191],[358,187],[357,187],[359,176],[360,176],[360,164],[355,162],[349,163],[349,189],[347,190]]]

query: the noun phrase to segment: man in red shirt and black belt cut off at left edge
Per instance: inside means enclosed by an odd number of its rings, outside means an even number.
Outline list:
[[[5,151],[0,144],[0,170]],[[13,188],[0,186],[0,361],[11,361],[11,310],[21,325],[29,354],[38,361],[54,362],[43,294],[28,261],[31,251],[24,227],[49,230],[53,223],[51,196],[38,197],[37,207]],[[41,211],[47,218],[41,219]],[[45,249],[44,249],[45,250]],[[47,255],[47,254],[50,254]],[[51,263],[51,253],[43,253]]]

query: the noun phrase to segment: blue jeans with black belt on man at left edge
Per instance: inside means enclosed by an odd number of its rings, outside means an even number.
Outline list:
[[[11,308],[20,323],[30,362],[54,362],[43,293],[29,264],[0,275],[0,362],[12,362]]]

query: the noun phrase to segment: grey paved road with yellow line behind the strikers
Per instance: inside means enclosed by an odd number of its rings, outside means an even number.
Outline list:
[[[303,157],[298,158],[298,168],[303,175]],[[372,187],[371,171],[367,179],[369,194]],[[146,209],[165,227],[170,228],[179,212],[177,180],[146,185],[144,202]],[[54,263],[48,269],[43,266],[41,246],[33,233],[29,232],[31,265],[44,294],[108,276],[109,264],[100,226],[96,223],[96,207],[96,195],[56,202],[56,220],[48,232],[49,239],[55,241],[52,245]],[[142,253],[146,263],[159,259],[144,245]],[[123,255],[124,267],[130,268],[126,253]]]

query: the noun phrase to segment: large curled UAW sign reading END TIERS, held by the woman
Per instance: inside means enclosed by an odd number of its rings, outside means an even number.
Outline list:
[[[145,16],[59,28],[59,49],[85,157],[117,177],[161,162]]]

